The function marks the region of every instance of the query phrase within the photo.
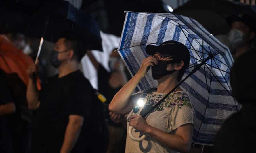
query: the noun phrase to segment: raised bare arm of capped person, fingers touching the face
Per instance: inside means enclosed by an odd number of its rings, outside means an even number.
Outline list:
[[[133,76],[133,78],[128,81],[114,96],[108,109],[117,114],[127,114],[133,108],[133,103],[129,103],[129,98],[135,88],[137,87],[140,80],[146,75],[149,70],[149,66],[154,66],[157,64],[157,59],[155,57],[148,57],[142,61],[142,65],[139,71]]]

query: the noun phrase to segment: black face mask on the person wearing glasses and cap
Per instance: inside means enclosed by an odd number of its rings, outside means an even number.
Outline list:
[[[157,80],[162,78],[163,76],[172,74],[173,72],[175,72],[176,70],[172,70],[172,71],[167,71],[167,65],[170,63],[174,63],[174,61],[172,60],[158,60],[158,64],[155,66],[151,67],[151,72],[152,72],[152,77],[153,79]]]

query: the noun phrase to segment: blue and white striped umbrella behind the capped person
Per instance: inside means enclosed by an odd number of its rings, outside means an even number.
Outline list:
[[[194,111],[194,144],[213,145],[217,130],[225,119],[238,111],[229,83],[230,68],[234,62],[229,49],[210,34],[200,23],[189,17],[170,13],[127,12],[121,36],[119,54],[132,76],[148,55],[147,44],[160,45],[175,40],[190,51],[190,68],[185,78],[209,55],[199,70],[182,84],[190,96]],[[151,70],[138,84],[137,91],[156,87]]]

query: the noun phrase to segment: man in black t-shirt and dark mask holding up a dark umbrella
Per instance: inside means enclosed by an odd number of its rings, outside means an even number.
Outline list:
[[[33,76],[37,66],[28,68],[28,107],[33,115],[33,152],[102,152],[106,144],[95,112],[93,88],[79,71],[82,42],[70,34],[61,36],[50,54],[58,74],[37,91]]]

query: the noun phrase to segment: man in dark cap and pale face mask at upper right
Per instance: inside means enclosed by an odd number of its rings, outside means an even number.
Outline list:
[[[255,23],[248,15],[237,15],[227,18],[230,31],[226,35],[218,35],[223,44],[228,46],[233,58],[236,60],[240,55],[253,48],[255,39]]]

